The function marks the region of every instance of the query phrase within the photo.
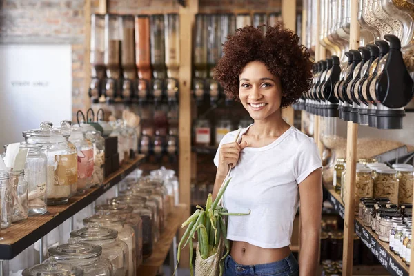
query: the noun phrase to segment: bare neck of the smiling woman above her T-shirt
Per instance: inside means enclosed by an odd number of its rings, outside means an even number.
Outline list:
[[[250,127],[248,134],[257,139],[279,137],[289,128],[290,125],[284,121],[281,111],[278,110],[263,120],[255,120],[255,124]]]

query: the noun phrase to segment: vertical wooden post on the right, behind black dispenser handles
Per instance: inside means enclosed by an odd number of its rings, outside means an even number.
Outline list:
[[[358,0],[351,0],[351,33],[349,46],[351,49],[359,47],[359,24],[357,19]],[[355,224],[355,202],[354,190],[356,180],[356,164],[357,164],[357,138],[358,124],[348,122],[348,135],[346,140],[346,181],[345,184],[345,218],[344,218],[344,252],[342,254],[343,275],[352,274],[353,266],[353,235]]]

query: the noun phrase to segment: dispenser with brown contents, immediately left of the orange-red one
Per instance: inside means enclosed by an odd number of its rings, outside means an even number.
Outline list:
[[[135,72],[135,32],[134,17],[124,15],[121,20],[121,96],[124,103],[130,103],[134,95]]]

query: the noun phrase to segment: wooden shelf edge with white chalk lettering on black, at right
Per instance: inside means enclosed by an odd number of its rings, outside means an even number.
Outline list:
[[[344,218],[344,204],[342,204],[341,197],[335,193],[333,186],[324,185],[324,188],[328,190],[328,200],[333,205],[333,208],[339,213],[339,215]],[[409,268],[402,261],[400,256],[395,255],[389,249],[389,244],[387,242],[382,242],[378,239],[377,234],[373,233],[371,228],[364,226],[361,219],[355,217],[355,233],[361,241],[371,249],[371,252],[377,257],[382,266],[388,270],[391,275],[395,276],[408,276]]]

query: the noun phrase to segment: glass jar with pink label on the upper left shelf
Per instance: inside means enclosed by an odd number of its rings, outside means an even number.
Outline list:
[[[62,128],[64,122],[61,122]],[[85,193],[92,186],[92,175],[94,168],[93,145],[86,139],[81,128],[77,126],[70,127],[69,141],[76,146],[77,149],[77,192]]]

